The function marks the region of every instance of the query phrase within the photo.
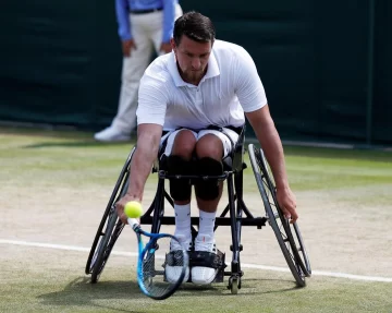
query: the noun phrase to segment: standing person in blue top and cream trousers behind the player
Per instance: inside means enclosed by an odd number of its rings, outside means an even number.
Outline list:
[[[123,65],[117,116],[110,127],[94,135],[100,142],[131,140],[136,128],[139,80],[154,52],[171,51],[174,22],[182,15],[177,0],[115,0]]]

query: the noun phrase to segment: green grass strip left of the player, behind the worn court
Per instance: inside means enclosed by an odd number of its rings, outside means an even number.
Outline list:
[[[105,145],[83,133],[51,132],[0,135],[0,159],[9,183],[29,181],[37,172],[41,180],[57,178],[60,185],[77,185],[81,177],[85,183],[113,183],[133,144]]]

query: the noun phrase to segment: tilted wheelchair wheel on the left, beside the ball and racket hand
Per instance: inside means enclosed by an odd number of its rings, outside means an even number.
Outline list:
[[[99,224],[91,250],[87,258],[85,273],[87,275],[91,274],[93,284],[98,281],[99,276],[108,262],[114,243],[124,228],[124,224],[120,220],[114,205],[126,193],[131,159],[134,152],[135,147],[130,153],[125,165],[121,170],[120,177],[114,185],[113,192]]]

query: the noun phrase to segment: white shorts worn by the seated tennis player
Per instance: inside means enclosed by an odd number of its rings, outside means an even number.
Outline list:
[[[167,156],[169,156],[171,154],[171,151],[173,148],[174,139],[175,139],[176,134],[179,132],[181,132],[182,130],[187,130],[187,129],[184,128],[181,130],[172,131],[162,136],[161,144],[163,143],[163,141],[166,139],[168,139],[168,143],[167,143],[163,154],[166,154]],[[215,134],[217,137],[219,137],[223,144],[223,158],[224,158],[232,152],[232,143],[234,145],[236,144],[236,142],[238,140],[238,134],[231,129],[222,128],[222,130],[224,130],[224,133],[217,131],[217,130],[200,130],[198,132],[195,132],[193,130],[189,130],[189,131],[195,135],[196,141],[198,141],[199,139],[201,139],[204,135],[207,135],[207,134]],[[228,136],[230,136],[231,141]]]

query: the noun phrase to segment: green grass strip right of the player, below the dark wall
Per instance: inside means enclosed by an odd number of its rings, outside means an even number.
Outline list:
[[[295,190],[392,183],[392,153],[286,147],[285,155]]]

